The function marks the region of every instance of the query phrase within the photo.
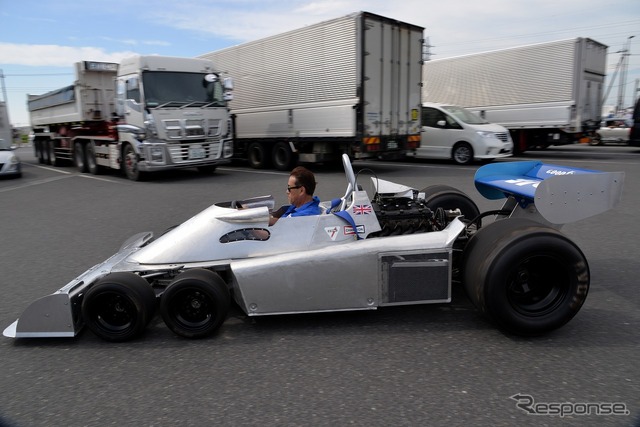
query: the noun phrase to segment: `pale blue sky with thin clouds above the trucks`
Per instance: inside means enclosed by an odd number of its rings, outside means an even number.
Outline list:
[[[605,105],[618,101],[628,45],[626,106],[636,96],[636,0],[0,0],[0,100],[14,126],[28,126],[27,94],[72,84],[77,61],[194,57],[358,11],[424,27],[432,59],[592,38],[609,46]]]

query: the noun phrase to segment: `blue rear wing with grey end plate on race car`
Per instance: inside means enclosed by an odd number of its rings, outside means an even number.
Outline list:
[[[566,224],[615,207],[622,195],[624,172],[601,172],[539,161],[493,163],[475,175],[480,194],[507,198],[552,224]],[[533,205],[533,208],[532,208]]]

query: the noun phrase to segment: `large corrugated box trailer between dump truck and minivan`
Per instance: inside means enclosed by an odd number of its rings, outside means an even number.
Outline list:
[[[234,78],[235,155],[287,170],[418,147],[422,44],[422,27],[357,12],[201,57]]]

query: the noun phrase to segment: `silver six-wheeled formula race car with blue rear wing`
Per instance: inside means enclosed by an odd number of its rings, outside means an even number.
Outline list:
[[[270,196],[217,203],[154,238],[140,233],[111,258],[36,300],[4,330],[12,338],[142,334],[159,311],[176,334],[201,338],[235,303],[248,316],[447,303],[461,283],[503,330],[558,328],[589,290],[582,251],[562,224],[611,209],[624,175],[546,165],[489,164],[475,185],[501,209],[481,214],[464,193],[371,177],[371,198],[347,156],[345,195],[316,216],[269,226]],[[482,226],[482,220],[489,220]]]

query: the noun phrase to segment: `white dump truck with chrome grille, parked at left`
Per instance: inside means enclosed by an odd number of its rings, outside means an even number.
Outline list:
[[[211,61],[134,56],[81,61],[74,84],[28,95],[34,151],[40,163],[73,162],[81,172],[148,173],[229,163],[233,143],[227,100],[230,77]]]

